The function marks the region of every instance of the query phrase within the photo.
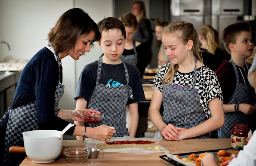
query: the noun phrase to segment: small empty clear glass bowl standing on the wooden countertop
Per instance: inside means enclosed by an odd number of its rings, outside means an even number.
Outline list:
[[[70,163],[83,163],[88,159],[90,150],[84,148],[69,148],[64,151],[64,154]]]

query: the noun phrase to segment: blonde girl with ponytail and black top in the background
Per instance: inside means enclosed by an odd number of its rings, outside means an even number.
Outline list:
[[[211,25],[202,25],[198,37],[204,65],[213,71],[216,71],[225,59],[224,52],[218,48],[215,33],[216,31]]]

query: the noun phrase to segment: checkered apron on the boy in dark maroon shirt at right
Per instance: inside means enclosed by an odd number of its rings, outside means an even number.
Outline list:
[[[236,75],[236,87],[234,89],[234,93],[230,100],[228,101],[228,105],[236,104],[236,103],[247,103],[250,105],[254,105],[254,89],[250,86],[250,84],[240,83],[239,82],[239,75],[237,71],[237,67],[232,59],[230,59],[231,64],[233,65],[234,72]],[[246,64],[247,66],[247,64]],[[248,68],[248,66],[247,66]],[[248,68],[249,70],[249,68]],[[220,135],[221,138],[231,138],[231,130],[234,124],[248,124],[253,125],[253,117],[256,117],[256,113],[254,112],[252,115],[246,115],[242,112],[231,112],[225,113],[225,125],[220,128]]]

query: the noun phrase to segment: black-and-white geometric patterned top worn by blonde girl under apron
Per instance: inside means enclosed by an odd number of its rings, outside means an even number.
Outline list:
[[[160,92],[163,92],[163,77],[171,65],[171,63],[167,63],[161,66],[153,80]],[[193,71],[190,73],[181,73],[177,71],[174,75],[173,84],[193,88],[193,73]],[[222,91],[216,74],[206,66],[198,68],[195,89],[198,89],[200,104],[204,109],[205,116],[210,118],[209,101],[215,97],[223,101]]]

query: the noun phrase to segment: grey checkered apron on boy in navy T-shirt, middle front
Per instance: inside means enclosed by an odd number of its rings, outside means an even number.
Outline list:
[[[122,60],[123,62],[123,60]],[[96,87],[93,90],[92,97],[89,100],[87,108],[94,109],[104,114],[103,120],[98,124],[89,124],[89,127],[96,127],[102,124],[115,127],[117,132],[114,137],[123,137],[128,135],[126,128],[126,104],[128,98],[133,98],[132,88],[128,85],[129,74],[126,65],[123,62],[126,76],[126,85],[107,87],[99,83],[102,71],[102,57],[98,62]]]

